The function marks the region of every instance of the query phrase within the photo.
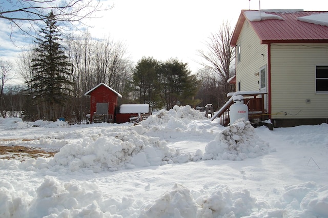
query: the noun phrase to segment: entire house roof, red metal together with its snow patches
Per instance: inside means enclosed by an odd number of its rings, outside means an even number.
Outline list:
[[[236,46],[244,22],[268,43],[328,43],[328,12],[303,10],[242,10],[230,44]]]

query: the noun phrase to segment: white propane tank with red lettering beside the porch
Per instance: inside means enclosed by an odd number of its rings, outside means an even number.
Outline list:
[[[240,118],[248,121],[248,107],[244,104],[244,97],[242,95],[233,96],[234,104],[230,106],[230,125]]]

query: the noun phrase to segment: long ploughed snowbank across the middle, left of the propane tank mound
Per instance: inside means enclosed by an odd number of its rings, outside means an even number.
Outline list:
[[[49,168],[63,166],[70,171],[101,172],[198,161],[202,158],[199,151],[195,154],[183,152],[170,148],[159,137],[146,136],[152,131],[158,134],[197,132],[199,126],[194,120],[204,120],[204,115],[190,106],[160,110],[138,126],[116,128],[68,143],[55,154]]]

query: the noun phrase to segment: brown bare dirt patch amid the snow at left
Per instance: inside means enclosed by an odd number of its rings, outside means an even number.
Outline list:
[[[24,161],[26,158],[51,157],[55,151],[45,151],[40,148],[30,148],[25,146],[0,146],[0,158],[19,159]]]

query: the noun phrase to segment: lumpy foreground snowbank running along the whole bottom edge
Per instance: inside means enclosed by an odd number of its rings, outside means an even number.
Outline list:
[[[190,190],[175,184],[150,202],[130,197],[120,200],[104,194],[94,181],[62,182],[45,176],[34,197],[24,194],[8,183],[0,182],[2,217],[38,218],[196,218],[196,217],[327,217],[328,186],[318,188],[313,182],[288,186],[277,201],[251,196],[248,189],[234,190],[217,185],[213,192]],[[23,194],[23,195],[22,195]]]

